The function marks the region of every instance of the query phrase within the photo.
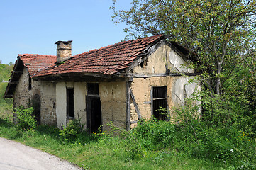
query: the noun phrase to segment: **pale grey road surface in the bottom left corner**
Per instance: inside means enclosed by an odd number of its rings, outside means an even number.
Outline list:
[[[0,137],[1,170],[78,170],[58,157]]]

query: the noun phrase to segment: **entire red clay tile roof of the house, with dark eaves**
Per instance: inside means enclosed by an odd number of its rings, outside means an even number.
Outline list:
[[[63,64],[57,64],[57,57],[52,55],[18,55],[14,65],[11,79],[6,88],[4,98],[13,97],[23,68],[28,70],[33,79],[55,79],[55,77],[73,77],[86,74],[87,77],[111,77],[118,72],[125,71],[140,57],[147,55],[150,47],[157,42],[165,40],[168,36],[163,34],[137,40],[118,42],[96,50],[90,50],[74,55]],[[189,51],[175,42],[168,42],[175,51],[182,53],[184,60],[189,60]],[[196,55],[192,60],[195,60]],[[130,69],[130,68],[129,68]]]

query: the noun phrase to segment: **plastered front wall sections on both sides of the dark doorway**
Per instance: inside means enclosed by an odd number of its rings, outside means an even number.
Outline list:
[[[81,118],[86,124],[86,96],[87,83],[85,82],[58,82],[56,84],[56,112],[57,127],[67,125],[66,89],[74,88],[74,118]],[[99,82],[99,96],[101,100],[101,116],[103,130],[110,121],[113,125],[126,128],[126,82]],[[86,127],[86,126],[85,126]]]

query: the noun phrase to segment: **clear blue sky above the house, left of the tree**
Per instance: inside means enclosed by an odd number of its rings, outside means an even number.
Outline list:
[[[118,0],[130,8],[132,0]],[[18,54],[56,55],[55,42],[73,40],[72,55],[120,42],[124,23],[113,24],[111,0],[1,0],[0,60]]]

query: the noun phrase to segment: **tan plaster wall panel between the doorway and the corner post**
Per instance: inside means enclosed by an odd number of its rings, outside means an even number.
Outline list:
[[[113,125],[126,128],[126,81],[100,82],[101,114],[103,130],[110,121]]]

